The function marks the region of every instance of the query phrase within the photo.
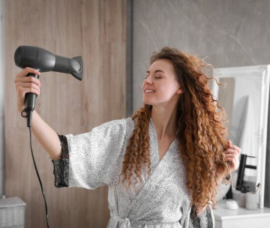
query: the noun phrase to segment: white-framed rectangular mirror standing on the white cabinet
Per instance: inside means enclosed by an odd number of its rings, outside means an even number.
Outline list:
[[[241,148],[242,169],[240,161],[233,172],[232,191],[240,187],[242,172],[241,186],[248,186],[250,192],[261,184],[258,207],[264,208],[270,65],[216,68],[213,76],[226,84],[218,86],[213,80],[212,92],[225,108],[229,139]]]

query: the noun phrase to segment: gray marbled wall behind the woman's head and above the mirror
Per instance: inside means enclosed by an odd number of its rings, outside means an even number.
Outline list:
[[[143,105],[149,58],[163,46],[207,56],[214,67],[270,64],[269,12],[269,0],[134,0],[133,112]],[[270,180],[269,146],[266,167]],[[265,194],[270,207],[269,181]]]

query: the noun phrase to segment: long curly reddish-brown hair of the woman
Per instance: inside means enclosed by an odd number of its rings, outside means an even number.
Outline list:
[[[227,127],[223,124],[227,122],[225,110],[219,106],[209,88],[209,80],[216,78],[208,77],[204,72],[208,66],[213,66],[205,63],[204,59],[170,47],[153,52],[150,64],[158,59],[170,60],[184,91],[177,103],[176,137],[180,142],[179,153],[187,169],[191,205],[201,213],[211,200],[215,209],[216,187],[220,184],[217,181],[217,168],[222,168],[223,178],[228,175],[231,177],[225,179],[226,185],[232,182],[232,170],[223,153],[228,148]],[[143,164],[146,163],[150,175],[148,126],[151,110],[152,105],[144,104],[132,116],[136,122],[135,129],[129,139],[120,174],[124,177],[122,182],[128,182],[128,187],[131,186],[133,174],[136,183],[138,177],[141,181]]]

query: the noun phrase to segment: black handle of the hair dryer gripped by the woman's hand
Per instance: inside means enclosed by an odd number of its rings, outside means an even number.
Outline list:
[[[28,73],[26,77],[29,77],[29,76],[39,79],[39,75]],[[32,93],[32,92],[26,93],[26,100],[25,100],[26,108],[22,111],[21,115],[27,118],[27,127],[31,126],[32,112],[35,109],[36,97],[37,97],[37,94],[35,93]],[[26,113],[26,115],[23,115],[23,113]]]

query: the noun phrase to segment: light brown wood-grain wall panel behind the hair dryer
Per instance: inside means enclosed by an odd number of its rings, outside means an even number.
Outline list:
[[[35,110],[58,134],[81,134],[126,117],[125,0],[5,0],[5,195],[27,203],[26,227],[46,227],[45,204],[31,158],[29,129],[17,111],[13,55],[20,45],[82,56],[84,73],[42,73]],[[106,228],[108,187],[54,187],[53,163],[32,135],[50,227]]]

